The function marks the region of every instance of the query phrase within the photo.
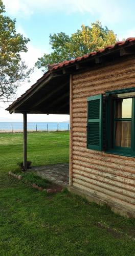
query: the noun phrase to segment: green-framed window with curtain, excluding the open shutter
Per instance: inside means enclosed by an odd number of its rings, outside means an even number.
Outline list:
[[[135,156],[135,89],[108,92],[106,116],[106,150],[118,155]]]

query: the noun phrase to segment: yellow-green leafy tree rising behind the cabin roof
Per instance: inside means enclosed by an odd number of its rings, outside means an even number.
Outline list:
[[[91,27],[81,26],[71,36],[63,32],[58,34],[50,34],[50,45],[53,52],[44,54],[38,58],[35,66],[42,71],[47,71],[48,64],[70,60],[88,54],[93,51],[98,51],[107,45],[113,45],[117,41],[117,35],[113,30],[107,27],[103,28],[101,23],[97,21],[92,23]]]

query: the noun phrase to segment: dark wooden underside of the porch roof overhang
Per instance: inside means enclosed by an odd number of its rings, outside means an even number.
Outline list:
[[[47,72],[7,110],[10,114],[69,114],[69,83],[69,75]]]

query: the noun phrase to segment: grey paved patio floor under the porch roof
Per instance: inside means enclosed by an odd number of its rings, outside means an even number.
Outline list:
[[[69,163],[32,167],[39,176],[63,187],[69,184]]]

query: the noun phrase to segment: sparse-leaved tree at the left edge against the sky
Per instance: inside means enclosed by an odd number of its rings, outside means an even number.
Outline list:
[[[5,6],[0,0],[0,101],[11,101],[17,87],[29,80],[32,69],[27,70],[20,53],[27,52],[29,38],[16,33],[15,19],[4,15]]]

